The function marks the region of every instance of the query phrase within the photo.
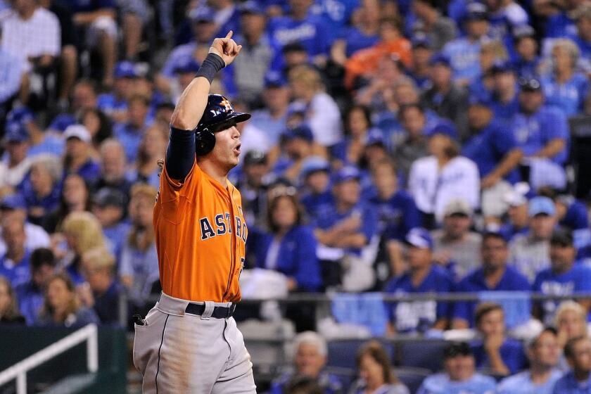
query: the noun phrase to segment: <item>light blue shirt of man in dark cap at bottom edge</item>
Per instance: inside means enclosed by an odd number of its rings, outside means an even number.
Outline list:
[[[428,376],[417,394],[495,394],[495,386],[495,379],[478,373],[466,381],[451,381],[441,373]]]

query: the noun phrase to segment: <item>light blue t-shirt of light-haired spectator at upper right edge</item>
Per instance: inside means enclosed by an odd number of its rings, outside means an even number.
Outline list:
[[[540,81],[547,106],[560,108],[566,117],[583,111],[589,93],[589,79],[581,73],[573,74],[570,80],[559,83],[554,76],[542,77]]]

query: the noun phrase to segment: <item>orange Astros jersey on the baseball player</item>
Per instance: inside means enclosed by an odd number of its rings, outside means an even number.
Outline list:
[[[216,303],[240,300],[238,279],[248,229],[238,189],[225,188],[193,163],[181,184],[166,166],[154,207],[163,291],[175,298]]]

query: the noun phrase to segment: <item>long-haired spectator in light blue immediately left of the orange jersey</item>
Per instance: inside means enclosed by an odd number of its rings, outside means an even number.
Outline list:
[[[129,291],[132,301],[139,305],[143,305],[160,276],[152,224],[155,196],[156,189],[147,184],[132,187],[129,201],[132,227],[126,236],[119,265],[121,283]]]

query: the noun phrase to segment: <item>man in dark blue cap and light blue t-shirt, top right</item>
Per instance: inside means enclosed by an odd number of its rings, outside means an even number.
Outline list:
[[[450,58],[453,80],[462,86],[480,76],[481,43],[489,30],[486,6],[476,1],[467,4],[464,18],[466,36],[447,43],[443,53]]]

